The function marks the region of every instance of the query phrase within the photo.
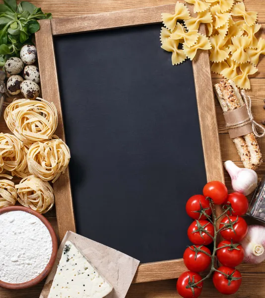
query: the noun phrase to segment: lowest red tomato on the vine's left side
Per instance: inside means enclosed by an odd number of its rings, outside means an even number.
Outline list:
[[[178,278],[177,281],[177,291],[180,296],[184,298],[197,298],[199,297],[202,291],[202,282],[197,286],[192,286],[192,284],[196,284],[201,280],[201,277],[196,272],[186,271],[182,273],[182,275]],[[188,286],[188,287],[187,287]],[[193,287],[194,294],[191,289]]]

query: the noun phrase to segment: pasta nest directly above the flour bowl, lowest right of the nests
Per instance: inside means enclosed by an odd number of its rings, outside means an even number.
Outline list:
[[[39,213],[46,213],[54,205],[54,190],[49,182],[30,175],[23,178],[15,186],[18,202],[24,207],[31,208]]]

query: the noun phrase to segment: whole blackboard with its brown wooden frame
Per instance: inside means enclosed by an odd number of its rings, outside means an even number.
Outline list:
[[[60,240],[77,231],[138,258],[133,283],[187,270],[186,201],[224,181],[208,53],[173,67],[160,48],[174,6],[41,20],[35,34],[72,156],[53,185]]]

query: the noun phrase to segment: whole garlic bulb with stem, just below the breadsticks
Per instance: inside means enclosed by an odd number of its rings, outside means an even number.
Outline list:
[[[240,168],[231,160],[227,160],[224,167],[231,177],[234,191],[247,196],[258,186],[258,175],[254,170]]]

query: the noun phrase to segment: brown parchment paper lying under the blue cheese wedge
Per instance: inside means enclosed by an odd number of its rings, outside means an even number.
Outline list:
[[[71,231],[67,231],[59,247],[54,267],[47,277],[40,298],[47,298],[49,295],[57,266],[67,240],[71,241],[87,258],[90,264],[99,272],[99,274],[101,274],[113,286],[114,289],[112,293],[106,297],[125,298],[140,262],[118,250],[80,236]]]

